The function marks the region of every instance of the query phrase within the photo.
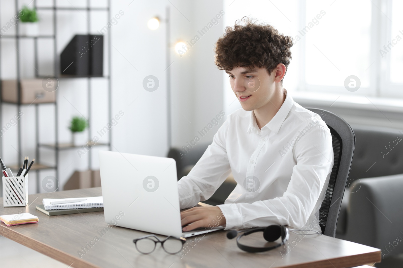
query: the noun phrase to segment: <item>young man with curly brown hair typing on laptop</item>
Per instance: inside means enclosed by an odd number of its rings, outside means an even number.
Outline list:
[[[332,136],[319,115],[283,88],[292,38],[248,18],[226,27],[216,65],[241,103],[202,158],[178,181],[181,209],[210,198],[230,172],[237,186],[224,205],[181,213],[183,231],[289,225],[321,232],[319,209],[333,167]]]

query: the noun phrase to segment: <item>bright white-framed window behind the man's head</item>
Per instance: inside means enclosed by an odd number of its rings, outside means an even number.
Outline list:
[[[294,39],[283,86],[289,91],[403,98],[401,0],[224,0],[224,25],[243,16]],[[349,76],[360,88],[347,90]],[[226,106],[235,96],[225,76]],[[353,85],[351,84],[351,85]]]

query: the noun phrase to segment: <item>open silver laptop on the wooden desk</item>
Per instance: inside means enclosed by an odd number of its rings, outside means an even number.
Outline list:
[[[99,151],[99,160],[106,223],[175,237],[224,228],[182,232],[172,158]]]

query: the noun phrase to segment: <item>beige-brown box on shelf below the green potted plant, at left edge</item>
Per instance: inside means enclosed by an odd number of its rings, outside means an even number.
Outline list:
[[[18,103],[17,80],[2,80],[2,100]],[[42,87],[42,79],[21,79],[21,104],[55,102],[56,92]]]

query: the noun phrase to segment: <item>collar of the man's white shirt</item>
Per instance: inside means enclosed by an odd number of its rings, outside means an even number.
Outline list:
[[[283,125],[283,122],[284,122],[285,118],[287,117],[289,111],[291,110],[291,107],[294,105],[294,100],[290,94],[287,94],[286,89],[284,89],[284,93],[285,93],[286,97],[283,102],[283,105],[281,105],[280,109],[277,111],[276,115],[274,115],[272,120],[270,120],[269,123],[267,123],[264,127],[262,127],[262,129],[268,128],[277,134],[281,125]],[[256,123],[256,117],[255,117],[255,113],[253,113],[253,110],[250,112],[249,127],[247,129],[248,133],[250,131],[252,131],[254,133],[262,134],[262,130],[259,129],[258,124]]]

